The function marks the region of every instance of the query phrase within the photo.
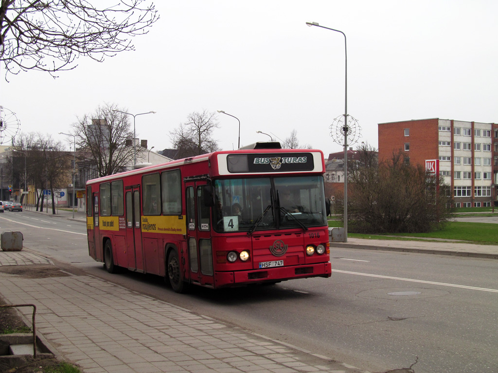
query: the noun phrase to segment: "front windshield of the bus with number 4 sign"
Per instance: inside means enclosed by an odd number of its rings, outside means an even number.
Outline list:
[[[322,176],[218,179],[214,189],[218,232],[306,230],[327,224]]]

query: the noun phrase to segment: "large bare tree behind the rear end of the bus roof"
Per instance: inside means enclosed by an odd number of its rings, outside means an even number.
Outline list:
[[[124,171],[133,160],[128,116],[114,110],[126,111],[106,103],[73,124],[76,144],[82,149],[81,161],[95,167],[99,177]]]

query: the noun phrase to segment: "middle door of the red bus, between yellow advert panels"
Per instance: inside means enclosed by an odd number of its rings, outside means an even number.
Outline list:
[[[126,255],[128,269],[143,271],[142,232],[140,228],[140,189],[126,190]]]

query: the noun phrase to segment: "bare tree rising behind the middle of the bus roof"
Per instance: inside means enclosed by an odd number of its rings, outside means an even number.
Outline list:
[[[213,130],[219,128],[216,112],[194,111],[187,121],[170,132],[171,142],[178,149],[178,158],[193,157],[221,150],[213,139]]]

